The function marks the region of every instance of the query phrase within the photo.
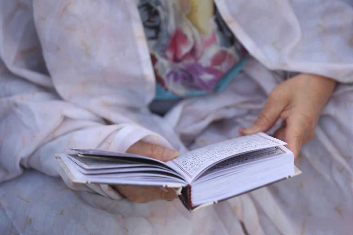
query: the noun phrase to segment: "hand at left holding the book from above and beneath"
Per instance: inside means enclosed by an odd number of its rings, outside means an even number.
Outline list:
[[[134,143],[126,152],[148,156],[161,161],[168,161],[179,155],[179,152],[173,149],[166,149],[142,141]],[[132,202],[143,203],[156,199],[171,201],[177,198],[177,194],[171,188],[134,185],[114,185],[113,187]]]

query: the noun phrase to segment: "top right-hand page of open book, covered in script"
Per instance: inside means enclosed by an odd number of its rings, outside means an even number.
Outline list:
[[[194,149],[172,161],[168,161],[167,164],[192,180],[205,168],[228,157],[284,144],[287,143],[259,132]]]

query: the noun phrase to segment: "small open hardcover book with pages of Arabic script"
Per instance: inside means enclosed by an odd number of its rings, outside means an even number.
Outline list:
[[[240,136],[162,162],[103,150],[71,149],[56,155],[75,183],[170,187],[190,211],[301,172],[286,144],[262,132]]]

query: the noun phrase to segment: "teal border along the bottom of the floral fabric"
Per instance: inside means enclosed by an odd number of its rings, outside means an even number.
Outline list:
[[[241,60],[235,64],[229,71],[223,75],[223,77],[218,81],[214,91],[215,93],[220,93],[226,89],[226,87],[229,85],[229,83],[232,82],[232,80],[237,76],[237,74],[243,69],[245,61],[249,57],[249,53],[246,53]],[[196,97],[196,96],[202,96],[202,95],[207,95],[210,93],[207,93],[205,91],[192,91],[188,92],[186,94],[186,97]],[[157,100],[175,100],[175,99],[181,99],[183,97],[179,97],[177,95],[174,95],[170,91],[166,91],[158,82],[156,82],[156,95],[155,99]]]

